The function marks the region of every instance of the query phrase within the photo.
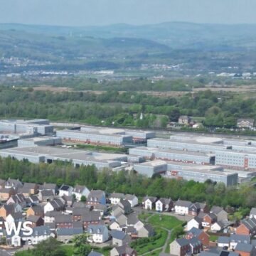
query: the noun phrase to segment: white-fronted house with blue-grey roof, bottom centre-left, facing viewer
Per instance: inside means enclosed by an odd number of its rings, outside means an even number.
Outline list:
[[[92,225],[87,228],[89,242],[102,243],[109,240],[109,230],[105,225]]]

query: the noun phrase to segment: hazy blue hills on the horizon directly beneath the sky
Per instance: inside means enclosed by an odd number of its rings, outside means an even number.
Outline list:
[[[144,26],[115,24],[111,26],[59,27],[0,24],[0,30],[48,33],[95,38],[144,38],[172,48],[210,48],[216,46],[256,47],[256,24],[197,24],[184,22]]]

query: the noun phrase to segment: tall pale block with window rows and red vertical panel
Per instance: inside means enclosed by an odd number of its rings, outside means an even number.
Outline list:
[[[216,151],[215,164],[226,169],[256,171],[256,154],[239,151]]]

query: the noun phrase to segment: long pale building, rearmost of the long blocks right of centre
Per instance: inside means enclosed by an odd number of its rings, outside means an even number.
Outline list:
[[[191,142],[191,141],[176,141],[173,139],[149,139],[147,141],[147,146],[158,147],[160,149],[176,149],[176,150],[188,150],[188,151],[198,151],[203,153],[215,153],[216,150],[226,149],[228,146],[223,146],[221,144],[210,144],[201,142]]]

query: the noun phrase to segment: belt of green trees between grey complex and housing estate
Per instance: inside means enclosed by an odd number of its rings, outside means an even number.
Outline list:
[[[75,168],[71,163],[31,164],[28,161],[17,161],[11,158],[0,158],[0,178],[18,178],[23,182],[63,183],[74,186],[85,185],[88,188],[102,189],[107,193],[132,193],[140,198],[157,196],[172,198],[174,201],[188,200],[207,202],[209,206],[240,209],[244,214],[256,206],[256,189],[248,184],[237,187],[225,187],[223,183],[206,181],[182,181],[176,179],[146,178],[134,172],[97,171],[95,166]]]

